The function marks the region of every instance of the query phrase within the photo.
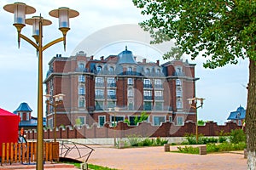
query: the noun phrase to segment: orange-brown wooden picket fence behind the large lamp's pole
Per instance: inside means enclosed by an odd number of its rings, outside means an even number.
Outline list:
[[[34,163],[37,161],[37,142],[3,143],[2,158],[3,163]],[[44,161],[59,161],[59,143],[44,142]]]

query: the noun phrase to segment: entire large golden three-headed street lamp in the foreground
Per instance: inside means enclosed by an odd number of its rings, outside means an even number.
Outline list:
[[[37,169],[44,169],[44,134],[43,134],[43,51],[57,42],[64,42],[66,49],[66,35],[69,28],[69,18],[79,15],[79,12],[69,8],[58,8],[49,12],[49,15],[59,18],[59,30],[62,32],[62,37],[55,39],[52,42],[43,46],[43,26],[49,26],[50,20],[45,20],[41,14],[34,16],[31,19],[26,19],[26,14],[33,14],[36,9],[26,5],[26,3],[7,4],[4,10],[15,14],[14,26],[18,32],[18,47],[20,48],[20,38],[29,42],[38,52],[38,144],[37,144]],[[32,25],[32,37],[36,42],[21,34],[24,26]]]

